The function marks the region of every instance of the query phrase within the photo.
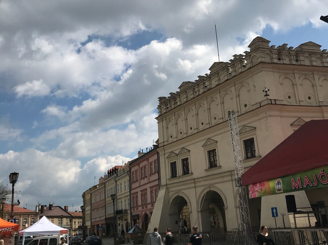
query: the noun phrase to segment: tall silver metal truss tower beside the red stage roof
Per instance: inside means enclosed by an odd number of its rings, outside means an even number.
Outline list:
[[[241,185],[241,175],[244,173],[244,165],[241,155],[239,130],[238,130],[237,116],[235,111],[230,111],[228,113],[228,121],[229,121],[232,150],[233,150],[234,162],[235,162],[235,174],[236,174],[235,182],[236,182],[236,187],[238,189],[241,229],[244,236],[244,244],[251,245],[253,244],[253,239],[250,234],[250,232],[252,231],[251,219],[249,216],[246,187]]]

